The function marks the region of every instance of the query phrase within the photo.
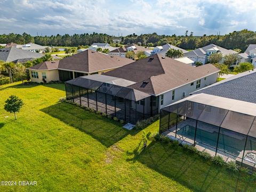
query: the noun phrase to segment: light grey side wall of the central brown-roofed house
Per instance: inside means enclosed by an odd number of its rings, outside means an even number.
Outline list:
[[[204,80],[204,77],[201,78],[201,86],[198,89],[196,89],[196,81],[194,81],[194,85],[192,85],[192,86],[190,85],[191,83],[188,83],[186,85],[178,87],[177,89],[175,89],[174,100],[172,100],[172,91],[173,90],[170,90],[170,91],[164,93],[164,103],[163,103],[163,105],[160,105],[161,101],[159,99],[160,108],[163,108],[167,105],[170,105],[173,102],[176,102],[180,99],[183,99],[184,98],[183,97],[183,92],[186,92],[185,97],[188,97],[191,92],[197,91],[199,89],[204,88],[205,86],[208,86],[208,85],[211,85],[211,84],[215,83],[217,81],[217,77],[218,77],[218,73],[207,76],[206,80]]]

